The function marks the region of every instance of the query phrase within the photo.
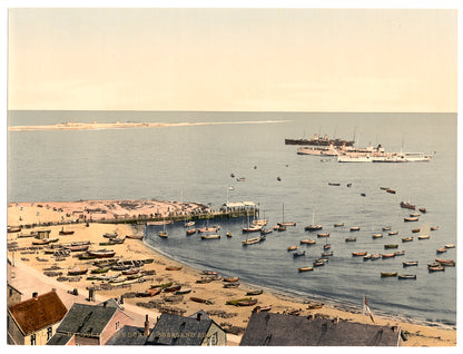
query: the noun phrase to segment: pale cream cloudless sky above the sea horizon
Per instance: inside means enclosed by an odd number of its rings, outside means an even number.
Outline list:
[[[457,108],[455,9],[9,8],[8,109]]]

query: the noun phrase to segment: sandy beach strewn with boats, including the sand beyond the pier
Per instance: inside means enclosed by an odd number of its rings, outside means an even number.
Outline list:
[[[77,203],[18,203],[10,204],[8,206],[8,225],[13,227],[24,224],[39,224],[39,223],[58,223],[58,222],[71,222],[79,219],[79,213],[76,210],[82,209],[83,204],[89,209],[89,201]],[[107,205],[106,201],[105,205]],[[141,205],[139,203],[138,205]],[[40,205],[40,206],[39,206]],[[48,207],[47,207],[48,205]],[[88,288],[96,288],[96,294],[99,298],[110,298],[124,296],[124,302],[130,308],[140,308],[140,313],[149,313],[156,317],[160,311],[170,311],[173,313],[190,315],[191,313],[205,309],[210,317],[221,325],[227,332],[233,335],[229,336],[229,344],[236,345],[239,343],[240,335],[246,328],[248,318],[250,316],[253,307],[239,307],[233,305],[226,305],[227,301],[238,299],[244,297],[257,298],[259,306],[272,305],[272,312],[275,313],[290,313],[293,311],[299,311],[301,316],[307,316],[309,314],[317,314],[319,316],[327,316],[331,318],[338,317],[345,321],[352,321],[357,323],[372,323],[370,317],[362,314],[362,304],[358,304],[357,309],[342,308],[343,306],[333,306],[329,304],[312,303],[308,299],[295,298],[289,295],[277,294],[270,289],[264,289],[264,293],[255,296],[246,296],[249,291],[260,289],[259,286],[253,286],[238,281],[240,285],[236,288],[225,288],[221,277],[218,276],[214,281],[206,281],[210,277],[203,274],[204,269],[195,269],[187,265],[179,264],[147,246],[142,239],[128,238],[126,236],[142,235],[144,225],[128,225],[128,224],[102,224],[96,223],[97,212],[101,215],[108,216],[108,212],[101,213],[102,208],[96,207],[92,215],[93,223],[68,224],[68,225],[50,225],[40,227],[23,228],[20,232],[8,233],[8,259],[14,265],[14,267],[33,268],[48,273],[47,277],[50,282],[50,287],[62,285],[65,288],[77,288],[80,295],[88,296]],[[116,204],[115,204],[116,205]],[[118,208],[114,208],[114,214],[144,214],[154,210],[156,208],[158,213],[165,215],[177,210],[174,206],[179,207],[178,204],[173,203],[156,203],[150,201],[149,208],[139,208],[131,210],[124,209],[120,203],[117,204]],[[127,204],[129,206],[130,204]],[[135,204],[131,204],[134,206]],[[194,204],[190,204],[191,208],[195,208]],[[198,205],[196,205],[198,207]],[[169,209],[170,208],[170,209]],[[142,213],[141,213],[141,212]],[[87,214],[89,217],[89,214]],[[82,218],[82,217],[80,217]],[[48,229],[50,230],[50,238],[58,237],[55,243],[50,243],[43,246],[32,245],[32,242],[37,239],[35,237],[24,237],[30,233]],[[60,235],[60,230],[73,232],[71,235]],[[108,238],[104,237],[104,234],[117,233],[118,238],[125,238],[124,243],[116,245],[100,245],[100,243],[107,243]],[[22,237],[20,237],[22,236]],[[51,254],[55,249],[59,249],[58,245],[70,245],[72,243],[89,242],[89,250],[108,249],[116,252],[114,258],[121,262],[127,260],[145,260],[145,264],[139,264],[139,273],[145,274],[142,277],[134,277],[130,279],[129,275],[122,275],[120,271],[108,271],[102,274],[92,274],[91,271],[98,269],[95,265],[97,259],[79,259],[76,257],[79,252],[71,252],[69,256],[57,257]],[[36,247],[36,248],[30,248]],[[52,248],[51,248],[52,247]],[[59,260],[61,259],[61,260]],[[107,259],[107,258],[100,258]],[[109,258],[108,258],[109,259]],[[149,259],[148,262],[146,262]],[[151,262],[152,259],[152,262]],[[50,269],[53,268],[53,269]],[[87,269],[87,274],[75,276],[68,275],[68,272],[75,268]],[[61,275],[57,275],[61,273]],[[32,274],[32,273],[31,273]],[[89,276],[116,277],[118,281],[115,283],[108,283],[108,281],[101,282],[98,279],[87,279]],[[61,277],[61,278],[60,278]],[[79,278],[79,281],[76,281]],[[45,279],[47,279],[45,278]],[[65,279],[62,279],[65,278]],[[124,281],[120,281],[124,279]],[[58,281],[58,282],[57,282]],[[73,282],[71,282],[73,281]],[[120,281],[120,282],[119,282]],[[190,288],[188,294],[177,294],[161,292],[152,297],[136,297],[137,293],[144,293],[156,285],[173,283],[173,285],[181,285],[181,289]],[[21,279],[14,279],[16,286],[21,291]],[[102,285],[101,284],[109,284]],[[28,294],[28,293],[26,293]],[[311,294],[307,294],[309,298]],[[197,303],[191,301],[191,297],[197,297],[207,301],[207,303]],[[314,307],[309,309],[309,307]],[[372,308],[375,314],[374,307]],[[140,317],[141,318],[141,317]],[[456,331],[454,328],[444,326],[428,326],[418,323],[408,323],[393,316],[380,316],[375,315],[375,324],[378,325],[396,325],[398,324],[407,336],[406,342],[402,342],[403,346],[455,346],[456,345]]]

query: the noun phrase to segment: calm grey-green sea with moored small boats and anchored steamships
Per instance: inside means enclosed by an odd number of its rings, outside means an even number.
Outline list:
[[[23,131],[8,134],[8,200],[157,198],[198,201],[219,208],[230,201],[259,204],[269,226],[296,222],[264,243],[242,246],[246,219],[223,220],[218,240],[185,235],[183,225],[169,226],[169,238],[149,227],[148,243],[199,269],[217,269],[244,282],[301,296],[348,303],[361,308],[362,295],[373,312],[456,323],[456,268],[430,274],[426,264],[436,249],[456,243],[456,115],[455,114],[287,114],[287,112],[156,112],[156,111],[10,111],[9,125],[46,125],[66,121],[249,121],[289,120],[279,124],[208,125],[150,129]],[[338,164],[298,156],[285,138],[327,134],[353,139],[357,146],[382,144],[387,151],[434,153],[421,164]],[[237,183],[230,177],[246,177]],[[277,180],[280,177],[280,181]],[[341,183],[339,187],[328,181]],[[346,184],[352,183],[347,188]],[[234,190],[228,190],[229,187]],[[380,187],[395,189],[386,194]],[[361,196],[365,194],[365,196]],[[424,206],[418,223],[404,223],[408,210],[401,200]],[[324,239],[304,247],[294,259],[286,250],[315,222],[331,234],[333,257],[324,267],[298,273],[321,256]],[[333,224],[344,223],[335,228]],[[402,244],[412,228],[439,225],[431,239]],[[351,226],[361,230],[351,233]],[[383,226],[397,236],[373,239]],[[230,232],[232,238],[225,237]],[[355,234],[355,235],[354,235]],[[356,243],[345,238],[356,236]],[[414,235],[416,236],[416,234]],[[385,253],[398,244],[405,255],[364,262],[352,252]],[[301,246],[299,246],[301,248]],[[450,249],[442,258],[456,259]],[[418,260],[403,268],[402,262]],[[381,278],[381,272],[416,274],[416,281]]]

